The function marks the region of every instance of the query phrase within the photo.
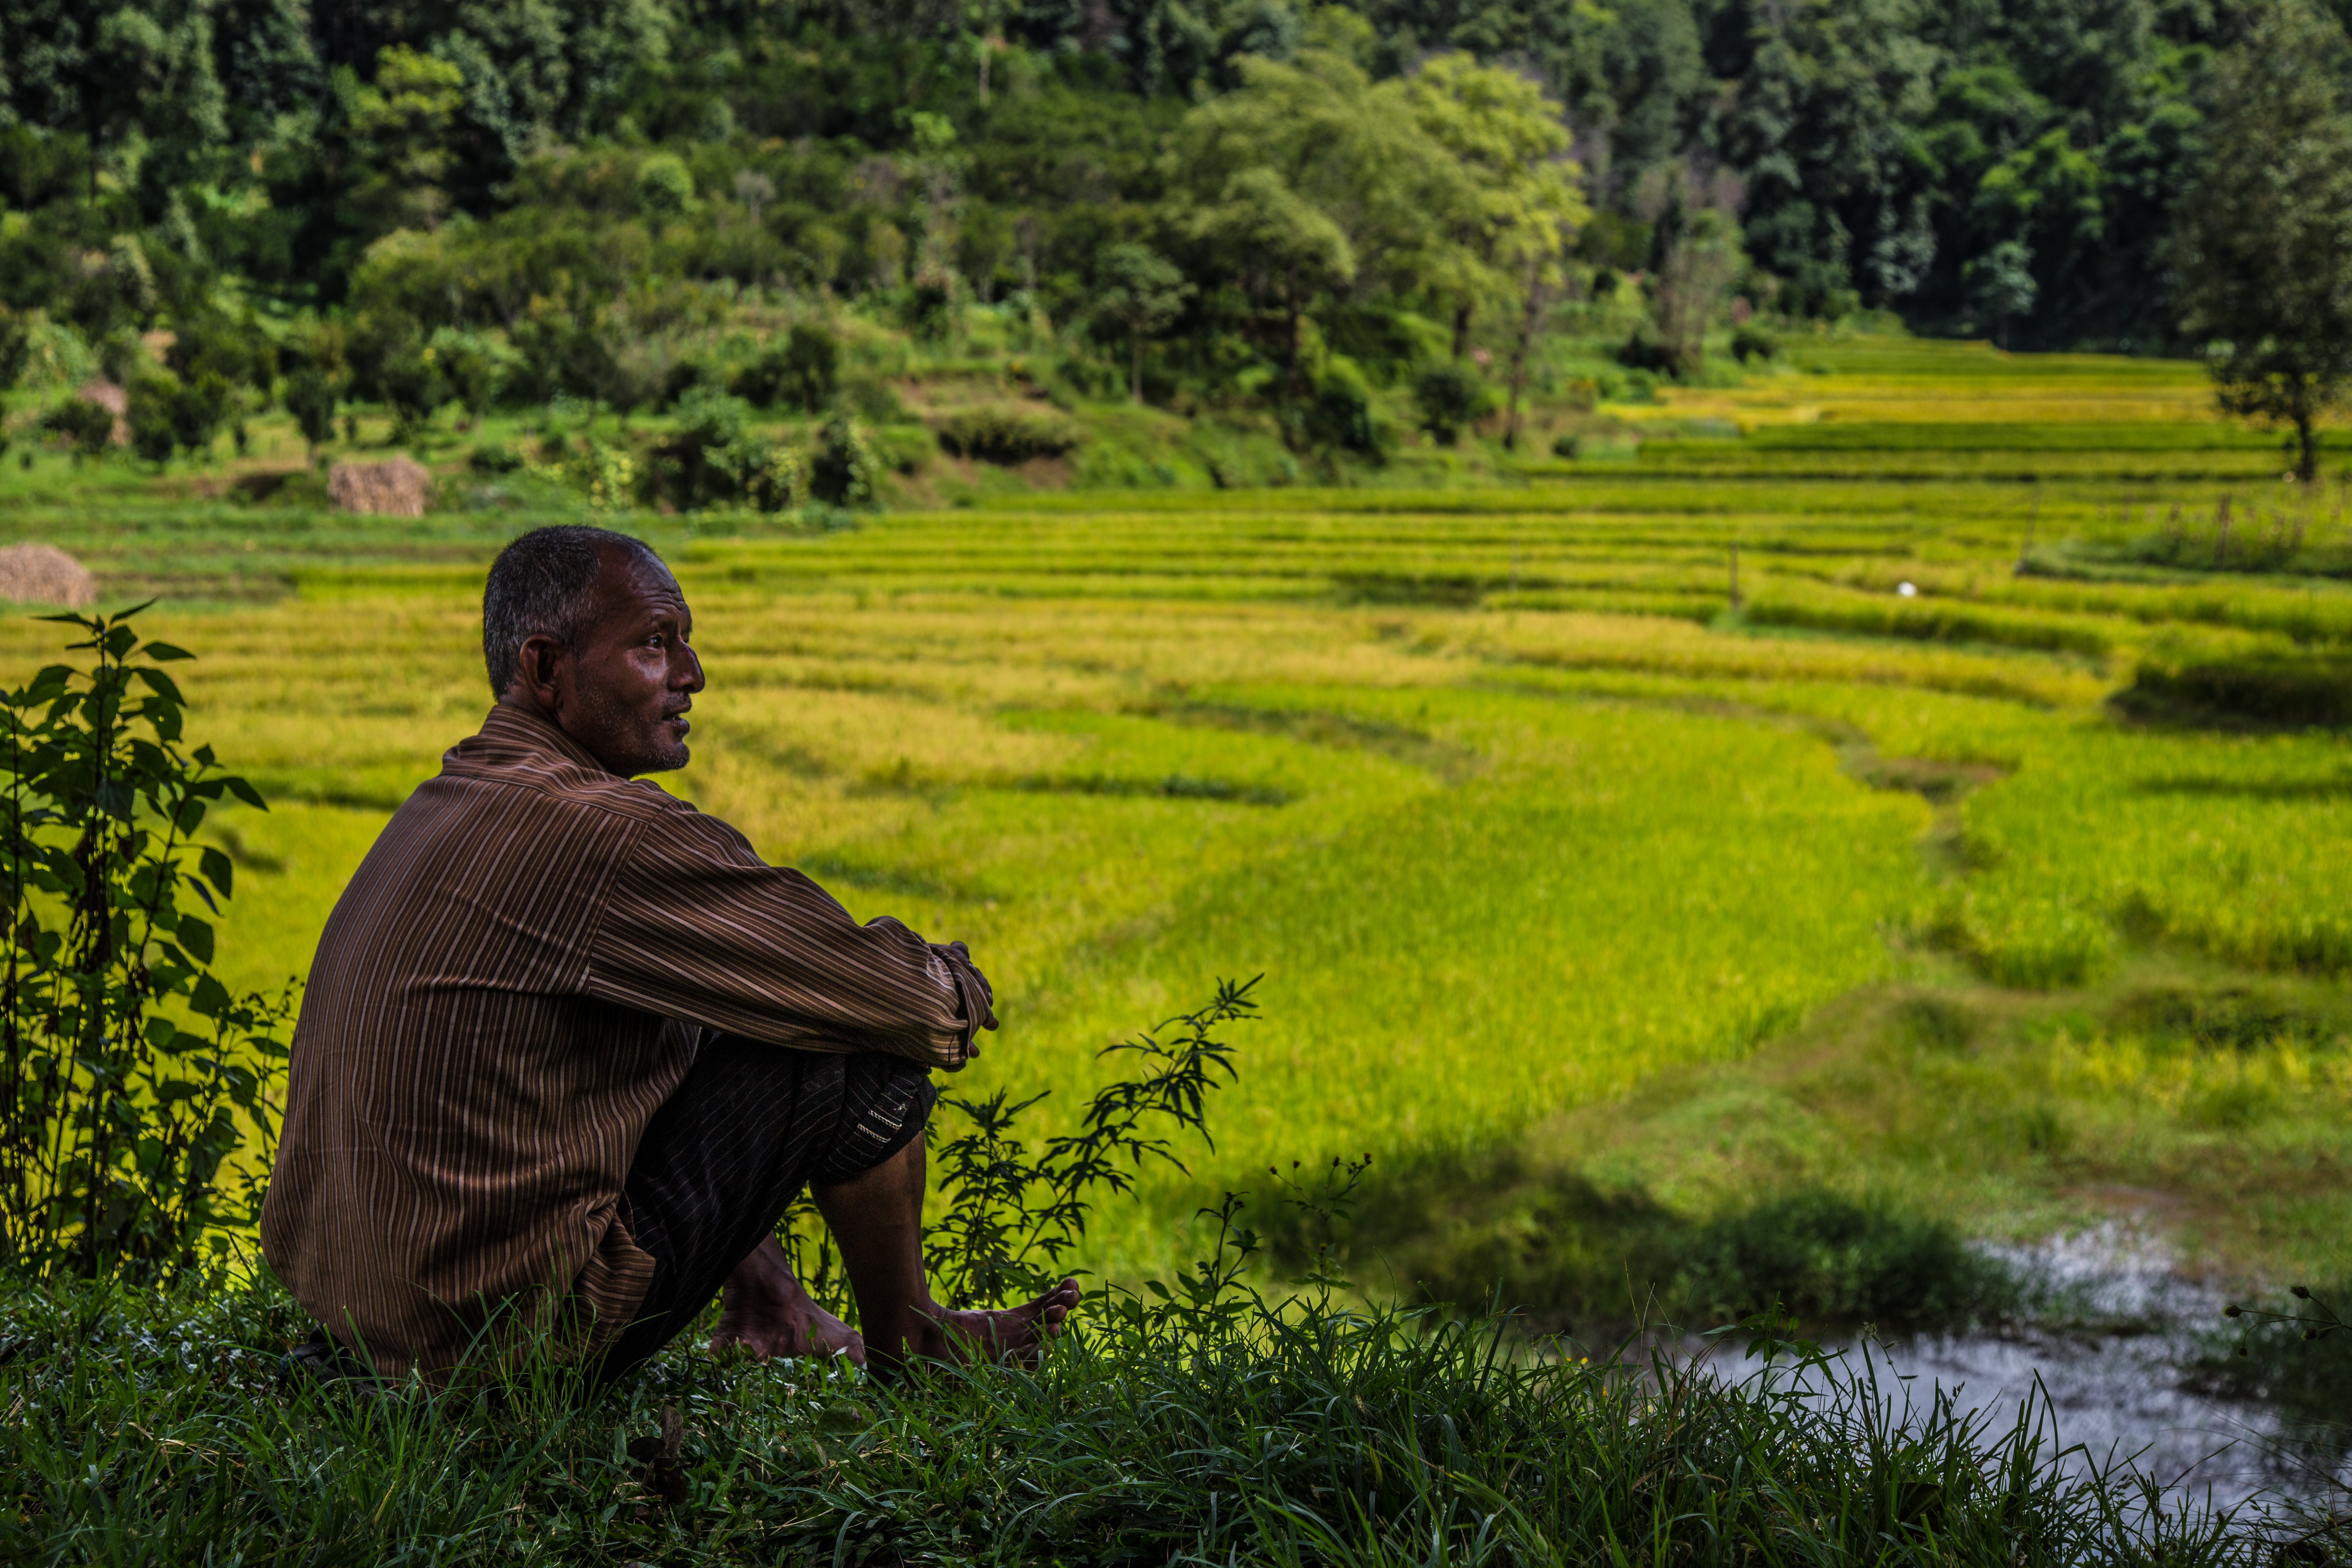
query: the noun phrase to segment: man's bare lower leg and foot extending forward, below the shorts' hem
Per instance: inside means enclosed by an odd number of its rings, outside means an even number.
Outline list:
[[[842,1248],[877,1371],[898,1371],[913,1356],[1035,1366],[1077,1307],[1075,1279],[1002,1312],[948,1312],[931,1300],[922,1276],[922,1138],[863,1175],[818,1187],[816,1208]]]

